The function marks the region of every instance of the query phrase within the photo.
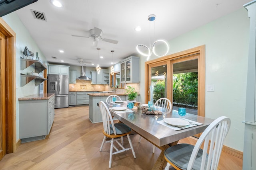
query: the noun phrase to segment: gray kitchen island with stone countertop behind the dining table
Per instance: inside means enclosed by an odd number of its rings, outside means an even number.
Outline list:
[[[97,106],[97,103],[100,101],[106,101],[107,97],[110,95],[117,95],[121,98],[122,101],[126,101],[126,96],[128,94],[112,92],[112,93],[88,93],[89,95],[89,119],[92,123],[102,122],[102,116],[100,113],[100,107]]]

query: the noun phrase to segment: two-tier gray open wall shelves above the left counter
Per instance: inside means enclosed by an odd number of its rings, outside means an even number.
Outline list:
[[[47,69],[47,66],[39,60],[31,60],[31,59],[20,59],[20,69],[24,70],[25,68],[29,67],[30,65],[35,64],[35,72],[32,72],[31,75],[20,75],[20,86],[24,86],[35,80],[35,86],[38,86],[46,78],[40,76],[38,73],[42,72],[43,70]]]

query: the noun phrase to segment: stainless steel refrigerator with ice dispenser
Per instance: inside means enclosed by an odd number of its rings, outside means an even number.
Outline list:
[[[48,74],[48,93],[55,94],[55,107],[68,107],[68,75]]]

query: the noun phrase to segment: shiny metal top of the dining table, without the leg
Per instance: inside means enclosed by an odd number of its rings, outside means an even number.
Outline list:
[[[111,103],[106,104],[108,107],[126,106],[126,103],[115,105]],[[157,121],[163,120],[167,117],[181,117],[180,115],[178,115],[178,111],[176,110],[160,108],[158,110],[162,111],[162,115],[146,115],[145,113],[141,112],[141,109],[132,110],[133,112],[124,113],[116,113],[110,110],[110,113],[114,117],[116,117],[116,119],[128,125],[142,137],[144,137],[148,141],[151,141],[159,147],[163,145],[168,145],[170,143],[179,141],[180,139],[184,139],[198,133],[202,133],[206,129],[206,127],[208,127],[208,125],[210,125],[210,123],[214,121],[214,119],[186,113],[186,115],[183,116],[184,118],[203,123],[203,125],[198,125],[176,131],[157,123]]]

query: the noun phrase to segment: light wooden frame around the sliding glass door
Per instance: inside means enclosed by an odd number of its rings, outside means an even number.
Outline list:
[[[198,115],[205,117],[205,45],[194,47],[185,51],[167,55],[158,59],[145,62],[145,102],[148,102],[148,89],[150,84],[148,84],[151,76],[150,65],[156,65],[157,63],[162,63],[164,61],[169,62],[167,64],[167,76],[172,75],[171,61],[174,59],[181,59],[194,54],[199,54],[198,56]],[[169,80],[168,80],[169,79]],[[172,84],[172,78],[167,78],[168,84]],[[169,93],[169,94],[168,94]],[[172,92],[169,88],[167,89],[167,98],[172,97]]]

